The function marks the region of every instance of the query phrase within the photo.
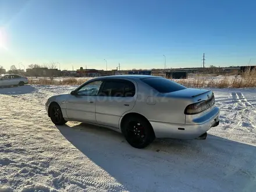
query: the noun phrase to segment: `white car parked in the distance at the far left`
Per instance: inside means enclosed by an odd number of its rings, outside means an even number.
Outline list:
[[[27,83],[29,83],[27,77],[22,77],[18,74],[2,74],[0,76],[0,87],[24,86]]]

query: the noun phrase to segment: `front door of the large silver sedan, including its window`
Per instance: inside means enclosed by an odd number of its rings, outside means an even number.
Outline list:
[[[66,101],[66,113],[69,119],[80,122],[96,123],[95,104],[102,81],[93,81],[79,87]]]

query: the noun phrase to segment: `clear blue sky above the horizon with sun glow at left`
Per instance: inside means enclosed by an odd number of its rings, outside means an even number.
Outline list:
[[[256,1],[0,0],[0,65],[256,65]]]

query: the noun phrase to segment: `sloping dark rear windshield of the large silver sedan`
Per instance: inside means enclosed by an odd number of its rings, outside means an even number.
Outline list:
[[[152,77],[141,79],[144,83],[148,84],[160,93],[171,93],[174,91],[184,90],[187,87],[182,86],[175,81],[165,79],[164,77]]]

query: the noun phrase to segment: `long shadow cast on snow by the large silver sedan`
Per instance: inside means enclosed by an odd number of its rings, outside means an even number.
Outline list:
[[[256,148],[208,134],[206,140],[155,140],[138,150],[122,134],[81,123],[61,134],[129,191],[253,191]]]

